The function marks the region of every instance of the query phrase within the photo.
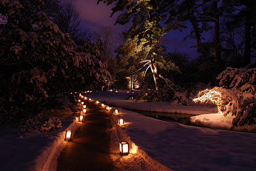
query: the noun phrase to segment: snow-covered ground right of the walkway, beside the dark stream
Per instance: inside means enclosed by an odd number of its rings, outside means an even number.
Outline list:
[[[86,94],[86,96],[116,106],[120,103],[120,106],[124,107],[124,100],[118,100],[118,98],[124,97],[125,94],[117,93],[118,97],[113,98],[113,101],[110,98],[113,93],[107,93],[108,95],[104,96],[102,94],[104,93]],[[162,105],[163,103],[154,105],[154,107],[159,110]],[[144,103],[141,108],[145,106],[147,105]],[[148,108],[152,110],[153,103]],[[256,168],[255,133],[213,130],[168,123],[119,109],[121,113],[115,115],[115,118],[124,117],[125,124],[113,129],[120,128],[122,136],[119,136],[121,137],[119,139],[130,142],[132,148],[131,154],[121,160],[123,163],[124,160],[132,162],[132,156],[140,155],[154,169],[160,168],[159,170],[165,170],[164,166],[172,170],[255,170]],[[195,110],[199,111],[200,108],[195,108]],[[212,115],[216,115],[216,118],[220,117],[217,114]],[[228,121],[223,125],[227,126],[227,124]],[[118,147],[117,143],[116,147]],[[122,168],[120,158],[112,156],[112,159]],[[151,169],[148,168],[148,170]]]

